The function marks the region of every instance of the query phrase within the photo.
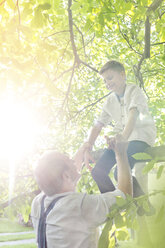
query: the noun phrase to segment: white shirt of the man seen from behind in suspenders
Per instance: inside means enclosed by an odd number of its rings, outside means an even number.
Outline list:
[[[64,195],[47,217],[48,248],[96,248],[96,229],[102,224],[116,202],[116,196],[125,197],[120,190],[105,194],[88,195],[67,192],[45,198],[45,208],[58,196]],[[37,236],[40,203],[43,193],[32,203],[32,222]]]

